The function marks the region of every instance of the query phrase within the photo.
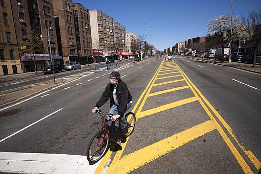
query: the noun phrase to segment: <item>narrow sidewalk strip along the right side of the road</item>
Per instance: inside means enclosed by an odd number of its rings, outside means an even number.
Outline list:
[[[251,71],[251,72],[261,73],[261,65],[259,65],[259,64],[256,64],[253,67],[253,65],[249,64],[249,63],[241,63],[241,62],[228,63],[227,61],[224,61],[222,63],[221,60],[191,57],[191,56],[186,56],[186,57],[196,59],[196,60],[202,60],[202,61],[205,61],[205,62],[215,63],[215,64],[219,64],[219,65],[223,65],[223,66],[230,66],[230,67],[234,67],[234,68],[239,68],[239,69],[243,69],[243,70],[247,70],[247,71]]]

